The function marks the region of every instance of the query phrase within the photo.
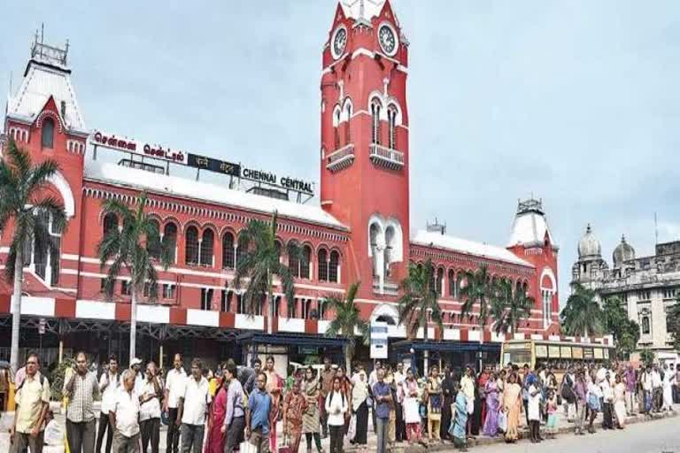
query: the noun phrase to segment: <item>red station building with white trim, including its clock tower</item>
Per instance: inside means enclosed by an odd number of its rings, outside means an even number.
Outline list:
[[[279,190],[266,193],[261,184],[244,191],[184,178],[175,169],[190,165],[188,153],[86,127],[67,49],[35,42],[24,79],[8,99],[4,131],[35,161],[59,163],[50,190],[64,203],[69,222],[65,231],[52,232],[58,257],[34,248],[27,259],[21,347],[35,347],[35,327],[43,319],[46,349],[56,350],[61,340],[67,349],[100,355],[116,351],[126,357],[128,279],[121,276],[113,300],[106,300],[97,243],[107,228],[118,225],[118,219],[104,217],[104,200],[134,204],[142,191],[149,194],[147,209],[161,234],[175,244],[174,264],[167,271],[159,268],[158,301],[143,300],[138,309],[138,350],[146,358],[158,359],[161,350],[166,356],[182,350],[217,359],[241,354],[258,342],[298,361],[339,352],[339,342],[324,337],[332,313],[323,301],[328,295],[342,296],[355,281],[362,282],[357,300],[362,314],[388,321],[390,342],[396,342],[406,337],[405,328],[398,326],[398,282],[409,262],[429,258],[436,265],[445,312],[444,330],[431,328],[429,338],[440,342],[443,354],[466,345],[476,345],[460,349],[469,354],[498,351],[502,337],[490,330],[482,333],[474,316],[460,316],[460,276],[482,264],[493,279],[512,280],[535,297],[521,334],[557,334],[558,247],[540,202],[519,203],[506,247],[455,238],[444,228],[410,233],[417,228],[409,211],[407,76],[408,41],[389,0],[338,4],[322,55],[320,154],[317,164],[313,154],[309,158],[309,165],[320,165],[321,191],[316,203],[297,203],[272,197],[274,192],[308,192],[293,179],[284,182],[274,175]],[[114,155],[118,163],[105,162],[104,156]],[[238,172],[231,174],[243,179],[254,174],[245,168]],[[243,313],[232,280],[239,232],[251,219],[269,219],[273,211],[280,216],[282,260],[295,269],[296,300],[295,310],[287,312],[281,288],[275,289],[277,316],[274,333],[268,335],[267,303],[255,316]],[[0,265],[11,234],[0,236]],[[305,250],[301,262],[291,263],[285,253],[290,242]],[[11,289],[5,282],[0,287],[0,329],[10,326]],[[8,347],[9,335],[3,338],[7,344],[0,346]],[[480,346],[480,340],[487,344]]]

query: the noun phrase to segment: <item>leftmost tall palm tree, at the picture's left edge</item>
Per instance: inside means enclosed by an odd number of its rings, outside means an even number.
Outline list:
[[[47,188],[50,178],[58,173],[58,164],[50,159],[36,164],[26,150],[19,149],[12,138],[6,154],[0,160],[0,231],[14,227],[10,253],[4,267],[8,281],[13,281],[12,294],[12,348],[10,364],[16,372],[19,365],[19,326],[21,321],[21,288],[23,283],[25,250],[49,250],[58,257],[57,244],[50,238],[52,231],[66,227],[66,211],[58,198],[50,196]],[[47,220],[46,220],[47,219]]]

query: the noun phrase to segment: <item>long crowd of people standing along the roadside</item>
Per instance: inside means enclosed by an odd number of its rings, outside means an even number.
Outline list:
[[[341,453],[347,442],[361,451],[367,450],[369,422],[378,453],[398,442],[452,441],[466,450],[475,436],[515,442],[524,428],[530,441],[543,441],[556,431],[560,406],[576,435],[583,435],[595,431],[599,413],[602,429],[623,429],[629,414],[672,411],[680,402],[680,370],[673,365],[579,363],[559,373],[549,364],[486,366],[481,372],[471,365],[433,365],[419,377],[402,363],[375,362],[370,372],[357,364],[347,372],[325,358],[322,366],[289,366],[283,378],[274,357],[264,364],[257,358],[251,368],[229,359],[213,371],[194,359],[185,372],[176,354],[167,372],[153,362],[143,367],[140,359],[120,370],[112,356],[98,379],[88,365],[85,353],[78,353],[64,379],[71,453],[158,453],[161,424],[167,425],[168,453],[232,453],[244,445],[298,452],[303,439],[307,453],[324,453],[326,437],[330,453]],[[16,383],[12,449],[41,453],[52,415],[50,383],[37,355],[28,355]]]

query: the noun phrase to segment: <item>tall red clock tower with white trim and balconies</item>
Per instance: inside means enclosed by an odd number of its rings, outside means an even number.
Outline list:
[[[409,247],[408,42],[389,0],[341,0],[323,50],[321,206],[352,230],[344,282],[393,299]]]

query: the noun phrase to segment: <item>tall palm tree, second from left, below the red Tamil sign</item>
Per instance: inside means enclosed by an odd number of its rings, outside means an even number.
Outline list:
[[[160,240],[158,223],[144,212],[147,195],[143,193],[136,208],[131,208],[118,200],[104,202],[104,216],[115,214],[121,220],[120,227],[111,228],[97,246],[99,265],[104,269],[109,265],[104,279],[104,293],[111,299],[116,279],[121,271],[130,275],[130,356],[135,358],[137,334],[137,300],[143,294],[144,286],[149,285],[149,298],[158,296],[158,273],[156,259],[163,270],[171,264],[171,246],[166,240]],[[174,246],[173,246],[174,247]]]

